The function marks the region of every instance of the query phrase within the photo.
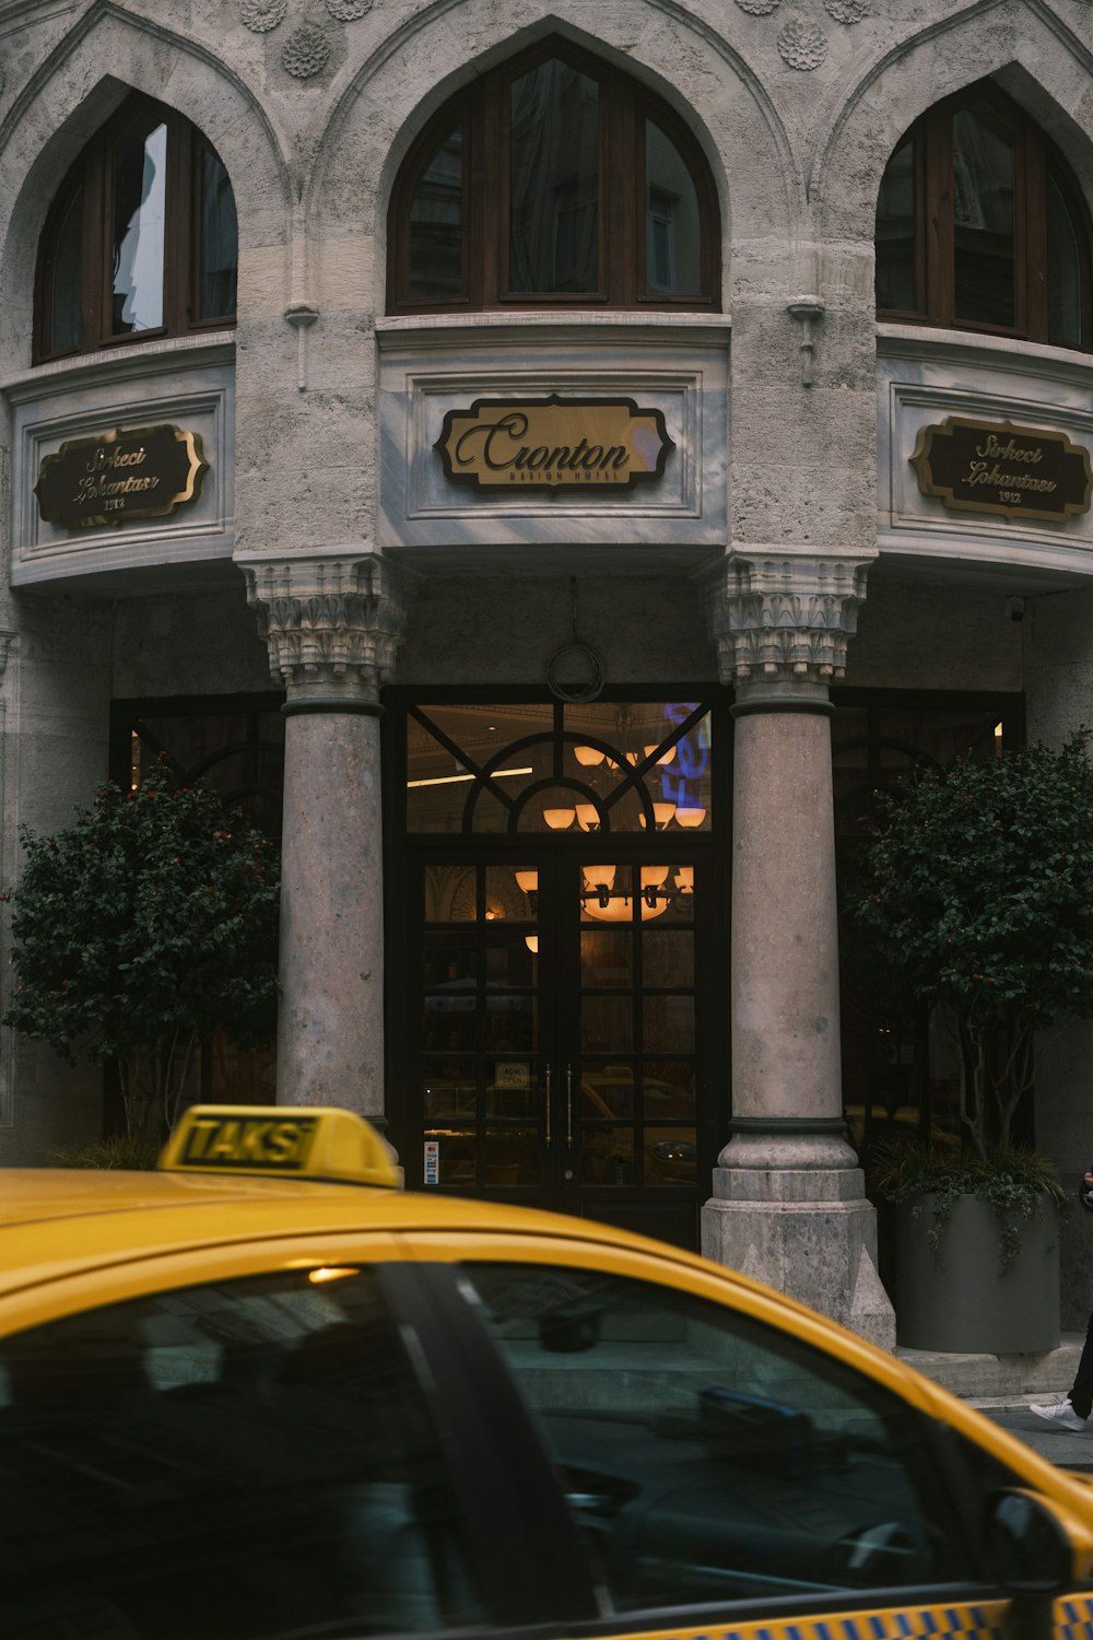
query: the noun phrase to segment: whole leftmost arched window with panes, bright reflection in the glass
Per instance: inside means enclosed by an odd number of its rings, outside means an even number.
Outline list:
[[[236,264],[236,202],[218,154],[182,115],[131,97],[46,220],[34,359],[231,323]]]

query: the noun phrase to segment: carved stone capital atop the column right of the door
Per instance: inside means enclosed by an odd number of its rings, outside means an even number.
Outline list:
[[[732,558],[710,600],[721,682],[839,682],[865,572],[844,558]]]

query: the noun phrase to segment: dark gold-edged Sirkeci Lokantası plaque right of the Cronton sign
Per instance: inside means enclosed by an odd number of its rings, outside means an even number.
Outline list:
[[[1090,453],[1065,433],[950,415],[919,428],[911,466],[923,495],[954,512],[1065,523],[1090,510]]]

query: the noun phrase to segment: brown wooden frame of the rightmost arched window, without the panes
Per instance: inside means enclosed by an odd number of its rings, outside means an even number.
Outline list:
[[[957,320],[955,259],[952,216],[952,120],[972,103],[986,103],[1014,131],[1016,200],[1016,318],[1006,330],[975,320]],[[1059,187],[1078,233],[1082,262],[1082,341],[1093,349],[1090,315],[1090,267],[1093,264],[1093,228],[1090,212],[1070,174],[1070,167],[1050,139],[1029,115],[996,85],[980,80],[957,97],[936,103],[896,143],[914,143],[914,257],[918,305],[909,310],[877,308],[880,320],[903,325],[934,325],[944,330],[967,330],[990,336],[1013,336],[1021,341],[1045,343],[1047,338],[1047,180]]]

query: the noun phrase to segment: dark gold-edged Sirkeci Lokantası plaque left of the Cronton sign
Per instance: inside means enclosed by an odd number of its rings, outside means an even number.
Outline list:
[[[179,426],[70,438],[38,469],[38,510],[62,530],[166,518],[202,494],[198,433]]]

